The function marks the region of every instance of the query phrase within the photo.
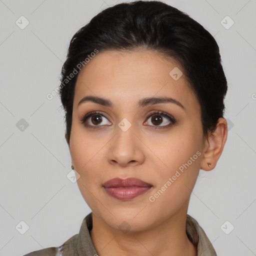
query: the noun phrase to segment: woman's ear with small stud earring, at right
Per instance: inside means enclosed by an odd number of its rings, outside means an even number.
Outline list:
[[[220,157],[227,137],[227,122],[224,118],[219,118],[217,126],[205,140],[204,153],[200,168],[212,170]]]

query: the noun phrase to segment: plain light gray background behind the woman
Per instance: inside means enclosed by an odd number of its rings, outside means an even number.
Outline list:
[[[71,161],[60,100],[46,94],[59,85],[75,31],[117,2],[0,0],[0,255],[59,246],[79,232],[90,212],[77,184],[66,177]],[[256,255],[256,2],[165,2],[214,35],[229,86],[228,139],[215,169],[200,171],[188,213],[219,256]],[[29,21],[24,29],[15,23],[25,24],[21,15]],[[226,15],[234,21],[229,29],[220,23],[231,24]],[[28,123],[23,130],[21,118]],[[24,234],[22,220],[29,226]]]

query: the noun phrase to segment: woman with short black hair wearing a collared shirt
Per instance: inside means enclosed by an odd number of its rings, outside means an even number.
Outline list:
[[[72,37],[59,87],[91,208],[79,234],[26,255],[216,255],[187,214],[227,137],[216,41],[159,1],[109,7]]]

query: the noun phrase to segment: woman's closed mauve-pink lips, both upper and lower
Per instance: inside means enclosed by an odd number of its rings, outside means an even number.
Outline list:
[[[152,184],[137,178],[113,178],[107,180],[103,187],[106,193],[119,200],[130,200],[147,192]]]

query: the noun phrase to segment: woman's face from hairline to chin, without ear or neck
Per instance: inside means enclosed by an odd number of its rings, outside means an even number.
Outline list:
[[[145,230],[186,214],[205,138],[199,103],[180,71],[174,60],[150,50],[108,50],[78,74],[72,164],[93,214],[113,228],[126,221],[130,230]],[[79,104],[86,96],[95,100]],[[92,111],[99,113],[82,122]],[[130,177],[145,183],[106,183]]]

